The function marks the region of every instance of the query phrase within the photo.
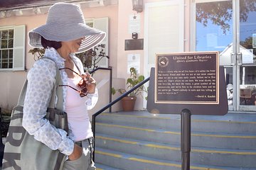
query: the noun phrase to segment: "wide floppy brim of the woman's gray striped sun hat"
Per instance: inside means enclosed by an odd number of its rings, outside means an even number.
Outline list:
[[[82,40],[80,48],[78,49],[77,53],[79,53],[89,50],[90,48],[102,42],[106,36],[106,33],[101,30],[86,26],[83,23],[76,24],[75,26],[63,25],[61,30],[59,23],[58,25],[46,23],[45,25],[35,28],[28,33],[29,45],[32,47],[43,47],[41,45],[41,36],[46,38],[46,40],[53,40],[57,42],[77,40],[79,38],[85,37],[85,40]]]

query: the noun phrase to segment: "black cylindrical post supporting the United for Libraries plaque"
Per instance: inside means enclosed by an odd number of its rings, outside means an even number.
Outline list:
[[[191,111],[183,109],[181,111],[181,169],[190,169],[191,152]]]

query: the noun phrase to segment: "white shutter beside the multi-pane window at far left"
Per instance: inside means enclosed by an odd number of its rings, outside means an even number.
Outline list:
[[[25,70],[26,26],[14,27],[14,71]]]

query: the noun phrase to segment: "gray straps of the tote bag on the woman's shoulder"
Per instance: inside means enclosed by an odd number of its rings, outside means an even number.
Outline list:
[[[41,59],[48,59],[51,60],[48,57],[41,57]],[[52,60],[53,61],[53,60]],[[60,76],[60,70],[58,69],[57,64],[55,63],[55,68],[56,68],[56,76],[55,76],[55,84],[53,87],[53,94],[50,98],[50,103],[49,103],[49,108],[58,108],[60,111],[63,111],[63,89],[58,88],[59,84],[61,84],[61,76]],[[24,105],[24,100],[26,96],[26,89],[28,86],[28,79],[23,84],[21,94],[18,97],[18,106],[23,106]],[[55,107],[55,96],[57,95],[58,102]]]

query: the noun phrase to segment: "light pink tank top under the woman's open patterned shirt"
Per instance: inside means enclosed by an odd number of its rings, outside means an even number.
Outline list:
[[[79,89],[80,79],[68,78],[68,85]],[[80,97],[78,91],[67,87],[66,112],[68,113],[69,136],[75,141],[85,140],[93,136],[90,118],[85,104],[87,96]]]

